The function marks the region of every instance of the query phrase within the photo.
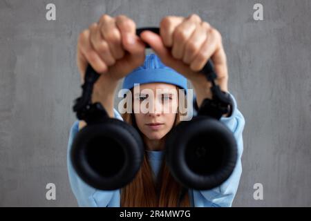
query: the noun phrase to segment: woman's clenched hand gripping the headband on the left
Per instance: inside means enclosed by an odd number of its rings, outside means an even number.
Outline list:
[[[136,35],[135,22],[124,15],[103,15],[100,21],[82,31],[77,42],[77,65],[82,84],[88,64],[101,76],[94,90],[106,80],[118,81],[144,62],[144,42]]]

